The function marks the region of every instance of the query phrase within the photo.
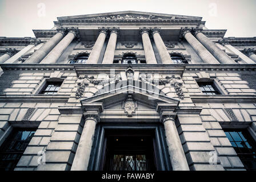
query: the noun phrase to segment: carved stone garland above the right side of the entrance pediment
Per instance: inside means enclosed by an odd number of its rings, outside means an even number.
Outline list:
[[[178,95],[178,97],[182,100],[184,99],[184,94],[183,94],[183,91],[181,89],[182,82],[181,82],[181,77],[180,76],[175,77],[174,75],[171,75],[171,77],[166,76],[165,78],[161,78],[161,79],[152,79],[151,77],[147,78],[145,75],[140,75],[139,80],[141,80],[143,82],[149,82],[149,83],[152,83],[154,85],[170,84],[171,86],[174,86],[174,89],[175,89],[176,94]]]

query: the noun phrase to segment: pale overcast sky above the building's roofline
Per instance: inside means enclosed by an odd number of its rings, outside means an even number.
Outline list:
[[[256,36],[256,0],[0,0],[0,36],[34,37],[59,16],[114,11],[201,16],[209,29],[227,29],[225,37]]]

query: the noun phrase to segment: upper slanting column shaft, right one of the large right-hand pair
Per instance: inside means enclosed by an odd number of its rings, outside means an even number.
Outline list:
[[[205,34],[202,32],[196,32],[195,37],[206,47],[208,51],[222,64],[237,64],[231,57],[229,57],[224,51],[216,46]]]

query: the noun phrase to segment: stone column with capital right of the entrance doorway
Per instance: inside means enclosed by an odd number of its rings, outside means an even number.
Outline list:
[[[166,143],[170,154],[171,166],[174,171],[189,171],[189,165],[187,164],[186,156],[175,125],[175,116],[176,114],[162,114],[161,116],[161,121],[165,126]]]

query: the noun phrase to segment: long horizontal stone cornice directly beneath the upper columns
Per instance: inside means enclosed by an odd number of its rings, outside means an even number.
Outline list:
[[[85,73],[115,73],[125,71],[126,64],[0,64],[3,71],[76,71],[78,75]],[[133,69],[139,72],[168,73],[183,75],[184,71],[255,71],[256,64],[133,64]]]

